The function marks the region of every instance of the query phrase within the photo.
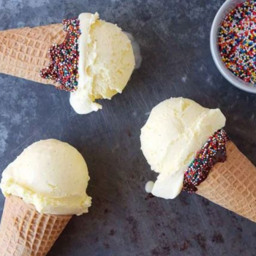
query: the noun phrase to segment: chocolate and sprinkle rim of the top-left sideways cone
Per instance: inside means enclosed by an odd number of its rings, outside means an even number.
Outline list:
[[[67,37],[60,45],[49,49],[50,64],[42,69],[40,76],[59,83],[59,89],[75,91],[78,87],[78,38],[81,34],[78,19],[63,20]]]

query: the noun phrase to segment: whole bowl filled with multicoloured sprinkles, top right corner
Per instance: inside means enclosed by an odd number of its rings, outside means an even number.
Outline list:
[[[222,75],[256,94],[256,0],[227,0],[211,27],[211,54]]]

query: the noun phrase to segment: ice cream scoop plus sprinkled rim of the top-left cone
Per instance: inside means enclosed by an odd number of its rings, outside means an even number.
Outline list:
[[[132,42],[113,23],[99,14],[82,13],[63,20],[67,36],[50,47],[50,64],[42,78],[53,80],[59,89],[70,91],[70,104],[78,114],[102,108],[96,99],[111,99],[121,93],[135,68]]]

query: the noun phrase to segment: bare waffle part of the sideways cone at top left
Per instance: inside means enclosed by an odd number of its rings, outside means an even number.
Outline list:
[[[50,46],[63,42],[65,36],[61,23],[0,31],[0,72],[58,86],[41,78],[39,71],[50,62]]]

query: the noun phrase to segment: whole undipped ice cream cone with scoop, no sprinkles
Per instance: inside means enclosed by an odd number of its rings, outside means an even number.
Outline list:
[[[88,182],[85,160],[68,143],[48,139],[25,148],[2,173],[0,255],[46,255],[72,216],[89,211]]]

